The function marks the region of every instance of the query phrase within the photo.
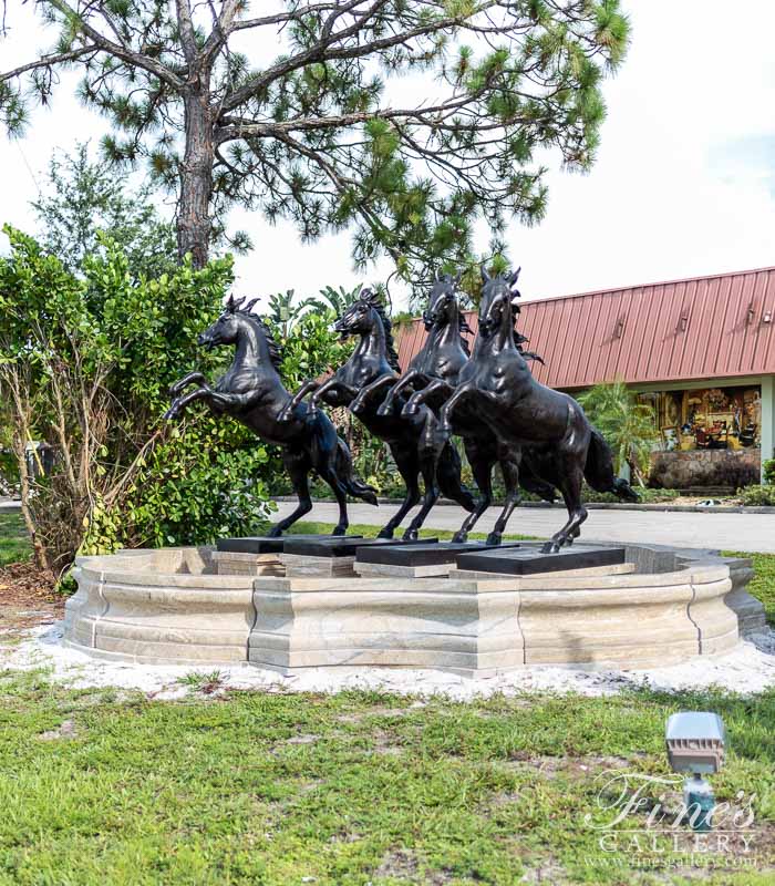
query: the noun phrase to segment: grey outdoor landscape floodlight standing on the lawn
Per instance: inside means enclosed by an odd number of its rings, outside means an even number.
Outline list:
[[[682,711],[668,718],[668,760],[675,772],[691,772],[683,785],[683,805],[694,831],[710,831],[715,800],[702,776],[724,762],[726,733],[717,713]]]

